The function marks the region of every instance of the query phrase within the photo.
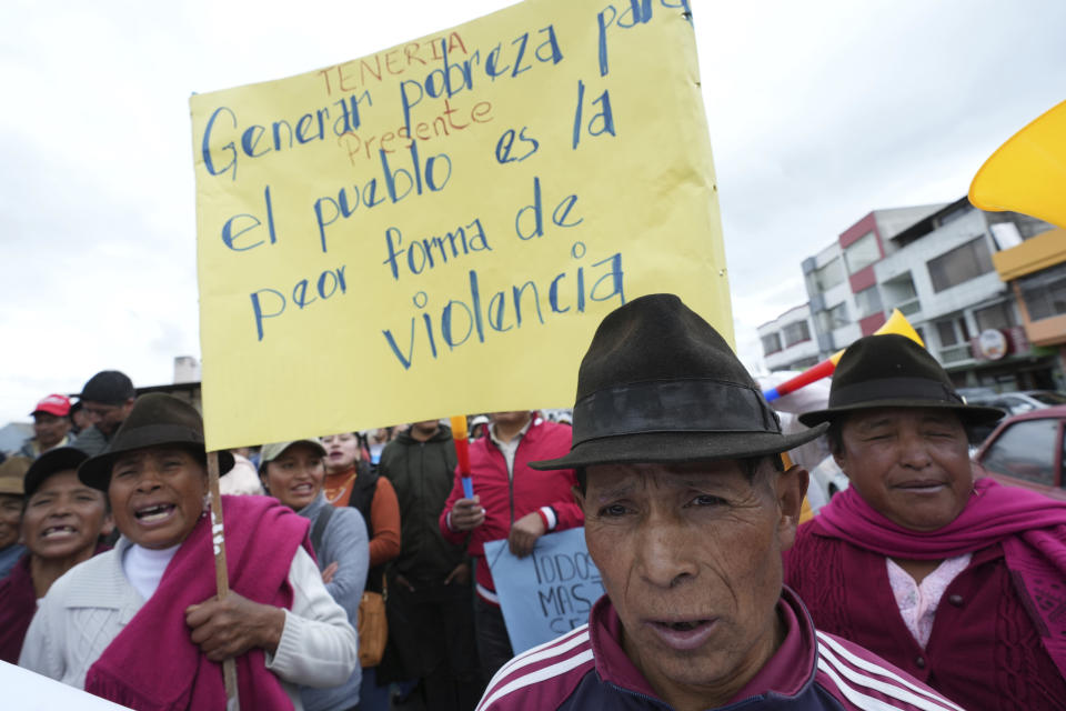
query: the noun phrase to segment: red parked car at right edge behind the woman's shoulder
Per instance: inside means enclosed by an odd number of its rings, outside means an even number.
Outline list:
[[[1066,501],[1066,404],[1007,418],[974,458],[976,474]]]

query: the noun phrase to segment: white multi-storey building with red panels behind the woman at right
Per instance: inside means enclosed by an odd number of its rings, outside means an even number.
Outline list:
[[[956,387],[1055,388],[1057,353],[1030,346],[1016,294],[993,266],[994,254],[1050,229],[1017,212],[978,210],[965,197],[874,210],[803,261],[817,358],[876,332],[899,309]],[[798,359],[774,337],[794,312],[758,329],[771,369]]]

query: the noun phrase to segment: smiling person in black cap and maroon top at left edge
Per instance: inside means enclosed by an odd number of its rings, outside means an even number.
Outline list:
[[[73,447],[41,454],[27,470],[22,540],[28,552],[0,581],[0,659],[19,661],[22,640],[43,598],[63,573],[97,553],[111,532],[104,495],[78,480],[89,455]]]

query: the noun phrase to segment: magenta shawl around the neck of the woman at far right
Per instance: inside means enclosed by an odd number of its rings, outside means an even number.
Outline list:
[[[912,531],[848,488],[815,522],[824,535],[892,558],[944,559],[1000,543],[1044,649],[1066,678],[1066,502],[978,479],[958,518],[936,531]]]

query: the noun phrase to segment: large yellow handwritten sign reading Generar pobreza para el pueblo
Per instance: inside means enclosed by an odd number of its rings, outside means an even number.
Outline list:
[[[190,104],[211,449],[570,405],[645,293],[732,340],[686,0],[526,0]]]

